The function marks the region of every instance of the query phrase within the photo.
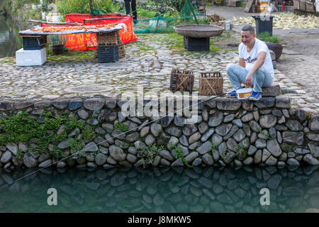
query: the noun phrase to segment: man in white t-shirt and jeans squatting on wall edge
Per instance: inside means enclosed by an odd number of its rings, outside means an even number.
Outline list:
[[[267,45],[256,38],[252,26],[242,28],[240,36],[242,43],[238,48],[239,63],[230,64],[226,68],[234,88],[227,95],[236,97],[236,91],[242,88],[242,82],[246,87],[252,87],[250,100],[259,100],[262,98],[262,87],[269,87],[274,79],[272,57]]]

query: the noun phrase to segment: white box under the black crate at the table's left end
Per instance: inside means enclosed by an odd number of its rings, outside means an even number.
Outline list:
[[[41,50],[20,50],[16,51],[16,65],[34,66],[43,65],[47,61],[47,48]]]

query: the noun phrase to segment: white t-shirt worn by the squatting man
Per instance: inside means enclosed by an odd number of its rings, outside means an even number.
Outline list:
[[[266,52],[266,58],[264,60],[264,66],[267,71],[272,75],[272,78],[274,78],[274,67],[272,66],[272,57],[270,57],[270,53],[268,50],[268,47],[266,43],[262,42],[262,40],[259,40],[257,38],[254,38],[254,48],[250,52],[247,52],[247,45],[244,45],[244,43],[240,43],[238,52],[239,57],[244,58],[246,62],[246,69],[250,71],[252,69],[252,65],[254,65],[254,62],[257,60],[259,52]]]

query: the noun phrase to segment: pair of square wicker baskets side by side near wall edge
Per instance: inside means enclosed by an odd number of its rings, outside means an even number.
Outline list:
[[[200,72],[199,95],[211,96],[223,94],[223,76],[220,72]],[[173,69],[169,90],[172,92],[193,92],[194,72]]]

